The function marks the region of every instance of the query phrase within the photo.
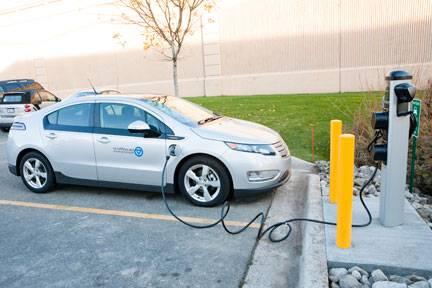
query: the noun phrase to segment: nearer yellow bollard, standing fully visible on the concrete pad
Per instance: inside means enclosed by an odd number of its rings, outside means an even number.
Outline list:
[[[342,249],[351,247],[352,224],[352,194],[354,186],[354,145],[355,137],[352,134],[339,136],[340,143],[340,193],[337,199],[336,212],[336,246]]]

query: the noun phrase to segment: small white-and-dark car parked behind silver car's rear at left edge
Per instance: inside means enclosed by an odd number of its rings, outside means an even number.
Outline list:
[[[16,116],[38,111],[60,101],[44,89],[4,93],[0,99],[0,129],[7,132]]]

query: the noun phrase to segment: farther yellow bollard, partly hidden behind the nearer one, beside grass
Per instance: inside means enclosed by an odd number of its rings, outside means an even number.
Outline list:
[[[339,136],[342,134],[342,121],[330,121],[330,203],[336,203],[337,200],[337,163],[339,154]]]

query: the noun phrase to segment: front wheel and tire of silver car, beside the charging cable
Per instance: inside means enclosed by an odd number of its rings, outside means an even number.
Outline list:
[[[197,156],[181,166],[178,187],[197,206],[212,207],[225,202],[231,192],[228,170],[216,159]]]

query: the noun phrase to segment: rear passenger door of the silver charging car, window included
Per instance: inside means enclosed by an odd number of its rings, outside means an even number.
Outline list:
[[[97,180],[93,114],[93,102],[84,102],[62,107],[43,118],[45,151],[55,172],[61,173],[58,177]]]

